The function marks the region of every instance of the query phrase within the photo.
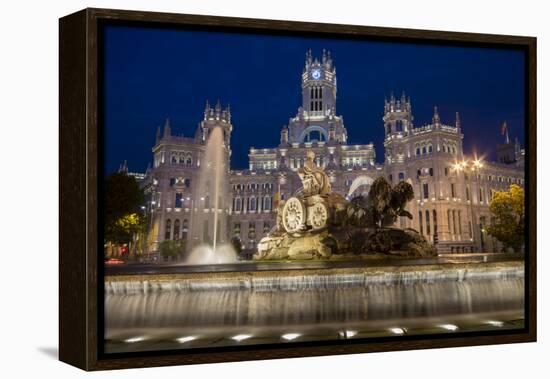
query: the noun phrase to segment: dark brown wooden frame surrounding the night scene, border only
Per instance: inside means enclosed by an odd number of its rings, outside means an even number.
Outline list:
[[[135,353],[101,353],[103,330],[100,56],[104,24],[369,38],[453,46],[511,47],[526,59],[525,328],[498,333]],[[85,9],[59,22],[59,357],[84,370],[352,354],[536,341],[536,38],[357,25]]]

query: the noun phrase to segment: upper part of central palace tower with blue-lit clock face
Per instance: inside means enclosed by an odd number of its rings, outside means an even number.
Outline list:
[[[309,116],[336,114],[336,68],[330,52],[323,49],[321,61],[306,53],[302,73],[302,108]]]

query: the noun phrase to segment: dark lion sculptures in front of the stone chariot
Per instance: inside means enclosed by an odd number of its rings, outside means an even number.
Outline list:
[[[351,200],[348,209],[348,220],[360,227],[389,226],[397,217],[412,215],[405,210],[407,203],[414,198],[412,186],[399,182],[395,187],[383,177],[377,178],[370,188],[367,197],[358,196]]]

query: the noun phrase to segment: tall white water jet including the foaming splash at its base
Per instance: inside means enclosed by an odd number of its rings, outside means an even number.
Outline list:
[[[226,241],[226,193],[228,153],[224,132],[217,126],[209,129],[206,149],[202,157],[199,182],[194,198],[192,223],[193,248],[184,264],[224,264],[237,261],[233,247]]]

